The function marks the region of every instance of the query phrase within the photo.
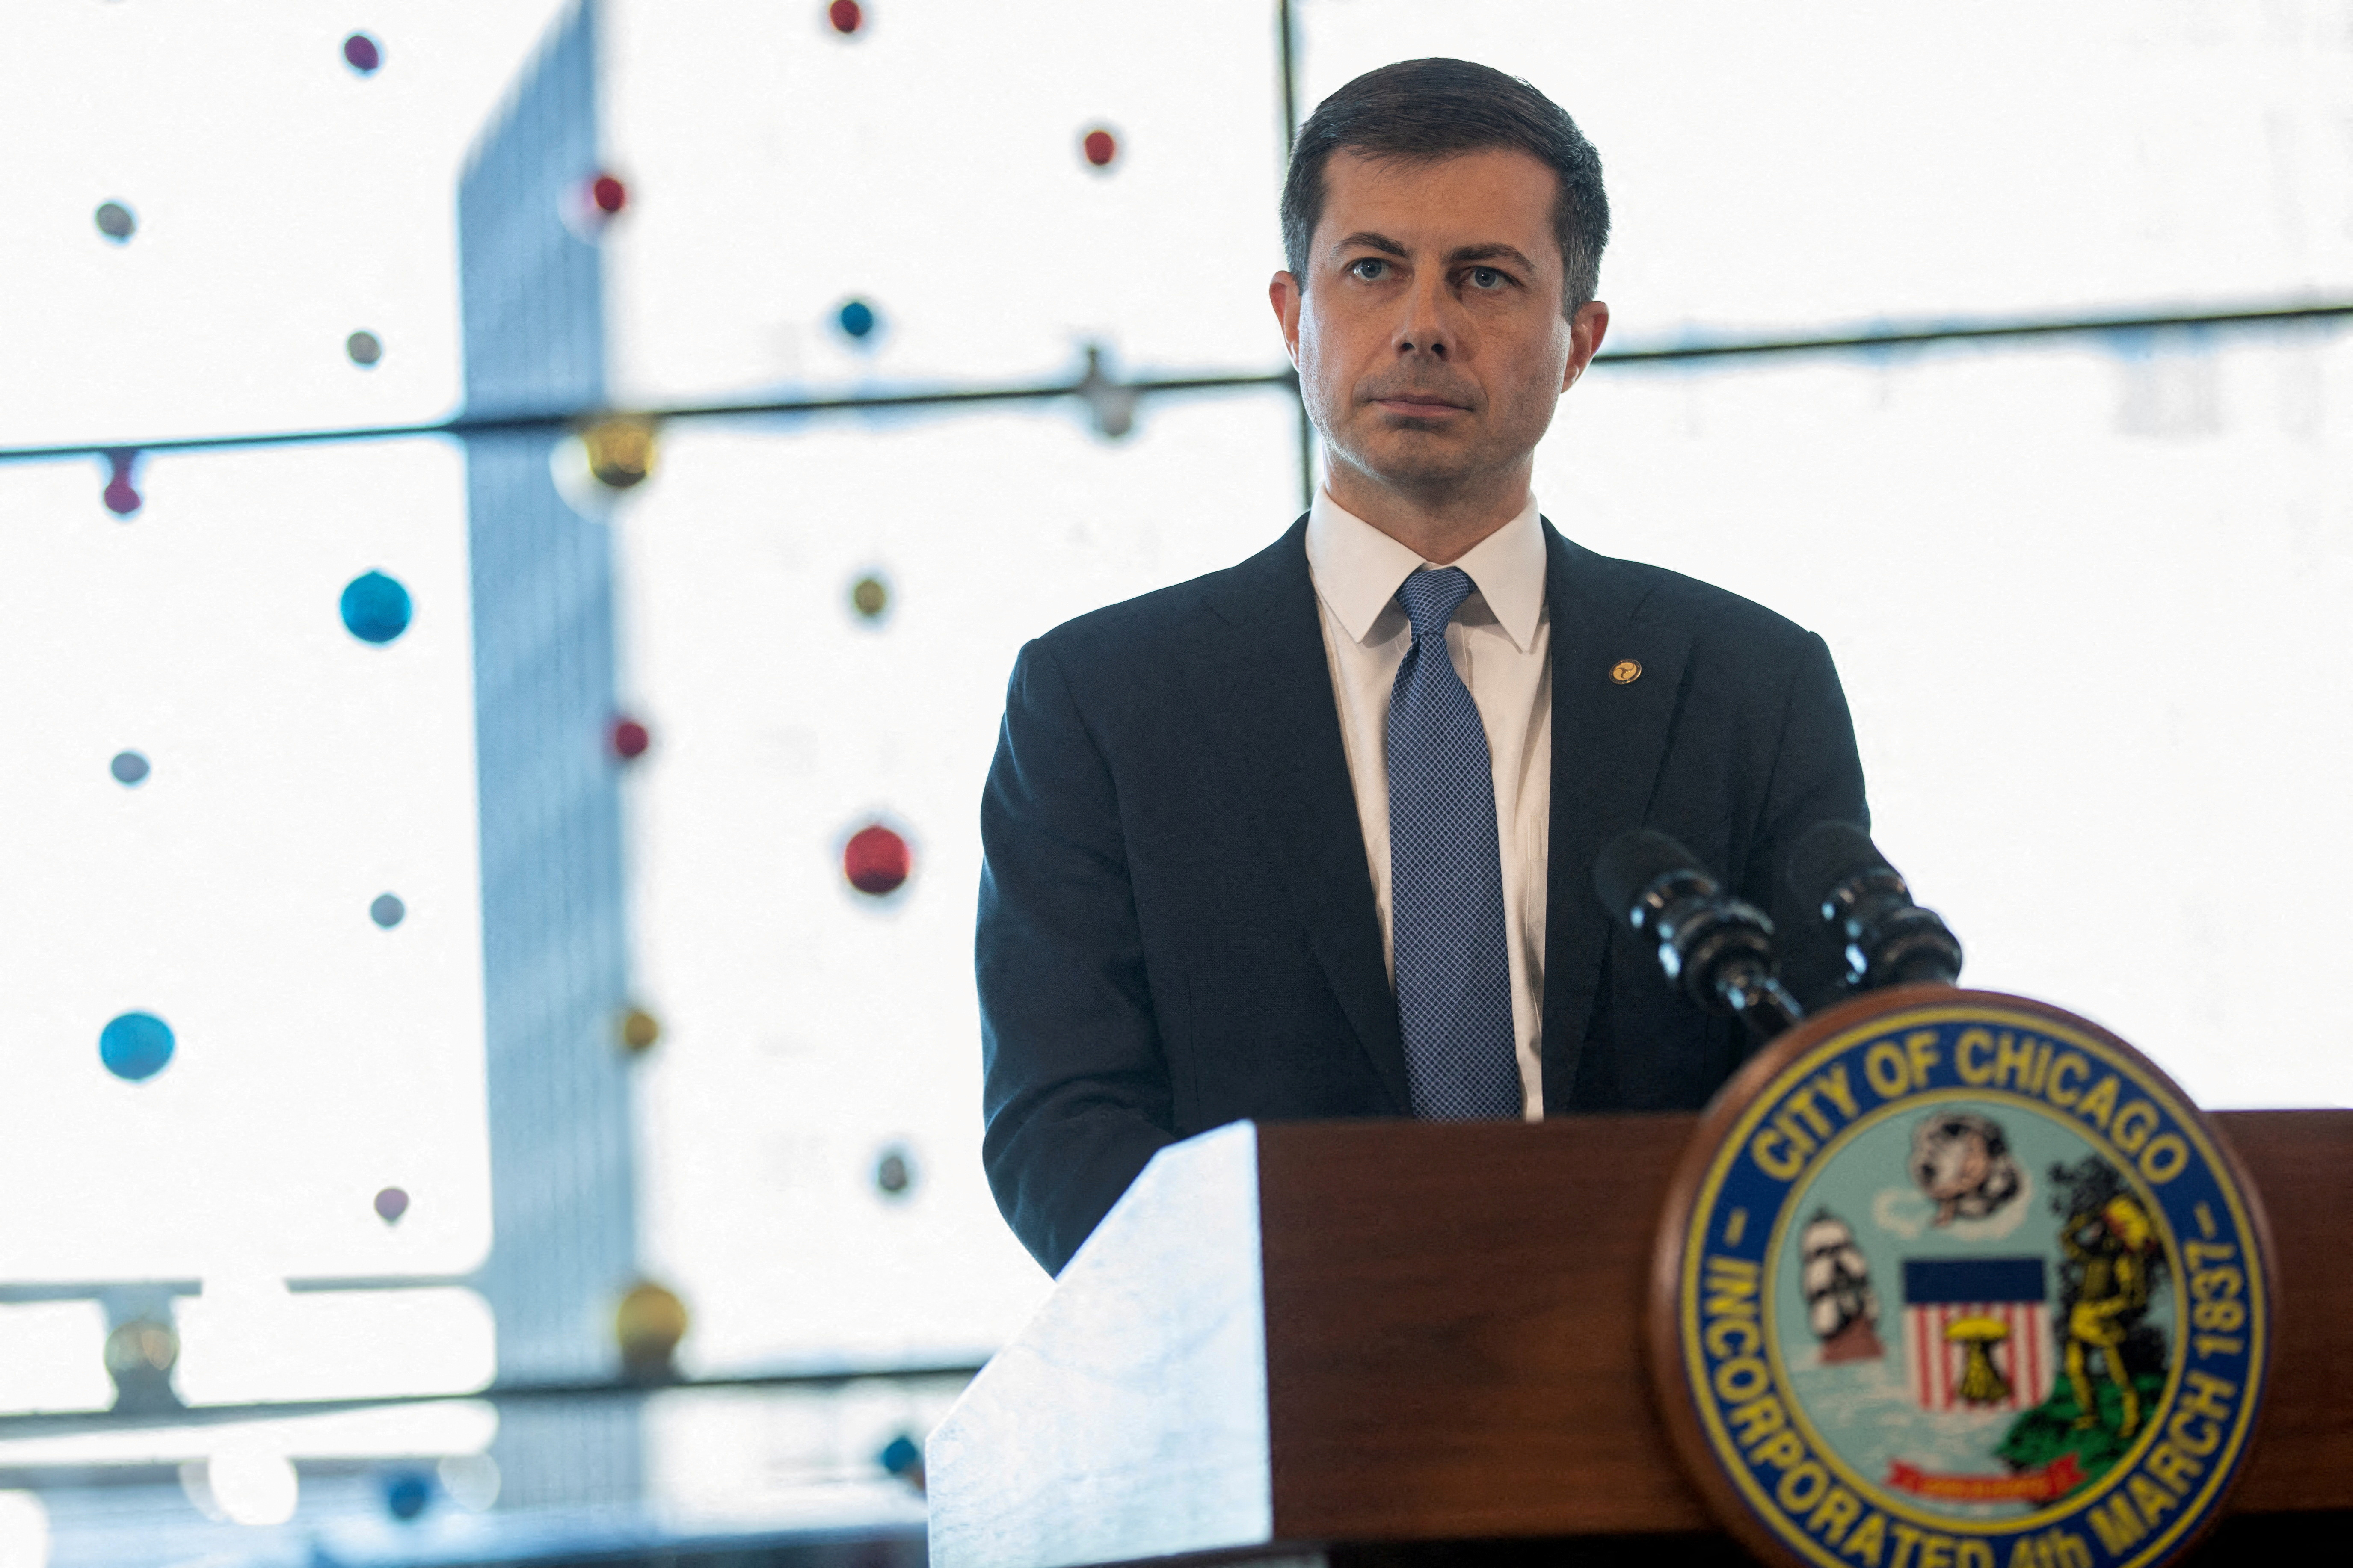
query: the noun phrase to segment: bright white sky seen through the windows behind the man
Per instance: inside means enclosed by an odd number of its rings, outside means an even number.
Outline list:
[[[1609,169],[1624,343],[2353,292],[2341,7],[1297,9],[1306,103],[1452,52],[1572,108]],[[624,395],[1054,376],[1092,339],[1127,367],[1280,362],[1271,5],[875,0],[854,42],[821,12],[607,7]],[[0,132],[38,155],[0,167],[0,444],[447,414],[456,172],[551,14],[14,19]],[[355,21],[372,80],[339,54]],[[1111,176],[1075,153],[1096,122]],[[104,200],[139,214],[129,244],[92,226]],[[868,346],[828,324],[852,294]],[[2329,933],[2257,926],[2275,870],[2240,842],[2264,823],[2318,884],[2353,877],[2348,407],[2332,336],[1614,371],[1572,395],[1539,494],[1572,536],[1831,639],[1880,842],[1972,980],[2111,1023],[2209,1103],[2344,1103],[2341,1025],[2294,980]],[[668,1025],[642,1227],[694,1305],[689,1363],[986,1349],[1035,1300],[974,1157],[972,802],[1002,675],[1052,621],[1273,536],[1289,451],[1257,395],[1148,407],[1118,447],[1061,409],[680,430],[616,515],[626,696],[656,736],[640,990]],[[54,1194],[0,1276],[188,1274],[280,1309],[254,1281],[456,1272],[487,1244],[459,463],[162,458],[129,524],[94,463],[0,468],[0,1180]],[[334,621],[367,569],[419,604],[386,649]],[[875,569],[882,630],[842,609]],[[125,745],[155,764],[139,790],[106,773]],[[920,856],[887,910],[833,865],[866,816]],[[398,931],[365,917],[386,889]],[[141,1086],[96,1070],[127,1006],[181,1037]],[[889,1143],[922,1173],[904,1204],[868,1182]],[[391,1229],[388,1180],[414,1194]],[[478,1333],[456,1295],[412,1312]],[[219,1396],[278,1387],[188,1328]]]

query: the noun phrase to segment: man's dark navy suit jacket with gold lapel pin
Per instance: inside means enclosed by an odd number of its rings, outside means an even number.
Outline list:
[[[1544,543],[1544,1110],[1692,1110],[1746,1041],[1612,933],[1593,858],[1628,827],[1682,839],[1772,912],[1784,978],[1821,997],[1838,952],[1784,863],[1809,823],[1866,820],[1847,701],[1821,637],[1781,616],[1551,522]],[[1612,679],[1628,658],[1640,677]],[[984,1161],[1047,1269],[1167,1143],[1409,1114],[1304,517],[1021,649],[981,842]]]

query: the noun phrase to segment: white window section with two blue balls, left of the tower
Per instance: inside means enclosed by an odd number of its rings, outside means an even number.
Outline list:
[[[184,454],[139,484],[118,522],[94,465],[0,468],[0,1182],[49,1194],[9,1279],[466,1272],[489,1171],[459,456]]]

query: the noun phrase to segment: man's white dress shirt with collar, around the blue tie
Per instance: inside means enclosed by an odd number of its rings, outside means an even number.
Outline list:
[[[1365,830],[1365,863],[1381,914],[1381,952],[1395,978],[1388,912],[1388,696],[1414,628],[1398,585],[1419,567],[1400,545],[1322,489],[1308,508],[1308,574],[1322,609],[1325,663]],[[1478,703],[1494,771],[1494,823],[1504,853],[1504,940],[1511,950],[1511,1034],[1520,1107],[1544,1117],[1544,870],[1553,806],[1553,618],[1544,604],[1544,529],[1537,498],[1457,562],[1473,583],[1447,625],[1447,656]]]

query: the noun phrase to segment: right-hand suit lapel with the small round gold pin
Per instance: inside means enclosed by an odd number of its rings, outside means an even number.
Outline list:
[[[1544,914],[1544,1105],[1565,1110],[1612,917],[1593,896],[1602,844],[1640,827],[1682,696],[1689,635],[1642,621],[1617,562],[1562,538],[1551,522],[1546,604],[1553,614],[1553,806]],[[1628,670],[1633,661],[1638,670]],[[1626,679],[1631,675],[1631,679]]]

